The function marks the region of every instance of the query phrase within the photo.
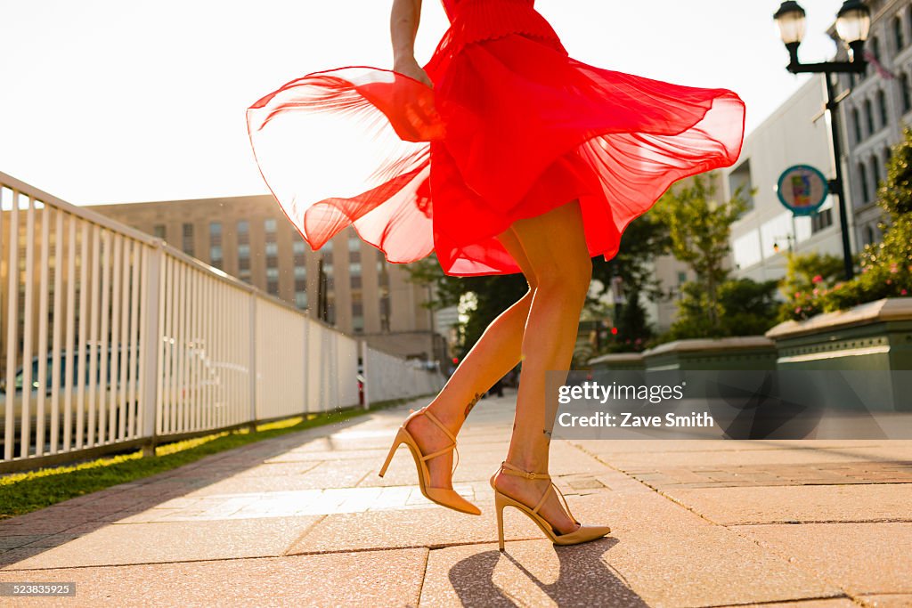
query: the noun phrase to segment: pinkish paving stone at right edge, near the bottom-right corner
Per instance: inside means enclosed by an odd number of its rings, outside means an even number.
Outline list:
[[[912,523],[734,526],[852,595],[912,593]]]

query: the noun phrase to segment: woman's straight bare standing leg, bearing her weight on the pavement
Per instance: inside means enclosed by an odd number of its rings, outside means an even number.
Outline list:
[[[573,359],[579,316],[592,278],[592,259],[586,248],[578,201],[535,218],[513,223],[531,265],[537,286],[523,335],[523,374],[507,462],[530,472],[548,470],[554,414],[545,408],[545,373],[560,374],[564,383]],[[495,486],[504,494],[534,506],[548,488],[545,479],[499,475]],[[560,533],[577,526],[554,492],[539,513]]]

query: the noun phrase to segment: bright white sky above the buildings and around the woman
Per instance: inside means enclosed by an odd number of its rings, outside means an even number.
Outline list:
[[[389,68],[391,0],[0,0],[0,171],[77,205],[267,193],[245,109],[332,67]],[[729,88],[748,132],[809,77],[785,70],[778,0],[538,0],[570,53]],[[804,62],[841,0],[802,0]],[[424,0],[423,64],[446,30]]]

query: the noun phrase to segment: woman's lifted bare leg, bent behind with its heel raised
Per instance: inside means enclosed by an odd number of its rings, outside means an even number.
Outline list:
[[[508,230],[498,238],[523,269],[529,282],[529,292],[488,325],[482,337],[450,376],[446,386],[440,390],[440,394],[430,402],[430,412],[453,435],[459,433],[475,402],[520,361],[523,328],[534,294],[534,276],[530,277],[527,272],[529,263],[513,231]],[[440,428],[423,416],[412,418],[408,430],[424,454],[446,448],[451,443]],[[432,487],[452,488],[452,452],[430,459],[428,469]]]

